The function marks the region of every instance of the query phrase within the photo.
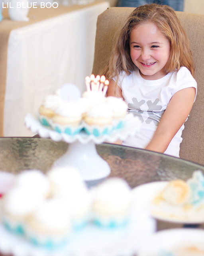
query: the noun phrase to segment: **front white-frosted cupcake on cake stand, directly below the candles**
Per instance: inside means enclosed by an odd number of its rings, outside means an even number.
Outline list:
[[[113,112],[108,104],[97,104],[86,113],[84,121],[84,129],[88,134],[110,134],[113,129]]]

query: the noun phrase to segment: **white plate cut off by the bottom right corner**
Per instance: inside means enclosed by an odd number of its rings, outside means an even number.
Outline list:
[[[177,249],[176,249],[177,248]],[[180,254],[178,251],[180,249]],[[181,252],[182,248],[182,252]],[[184,249],[185,248],[185,249]],[[200,254],[196,254],[196,249]],[[177,254],[176,254],[177,252]],[[189,254],[187,254],[187,252]],[[204,255],[204,230],[175,228],[159,231],[142,246],[137,256],[197,256]]]

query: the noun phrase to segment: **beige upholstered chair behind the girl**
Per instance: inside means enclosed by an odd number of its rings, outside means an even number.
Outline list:
[[[112,49],[112,38],[134,8],[112,7],[98,16],[93,73],[100,74]],[[185,123],[180,158],[204,165],[204,15],[177,12],[190,40],[198,83],[196,101]],[[102,75],[102,74],[100,74]]]

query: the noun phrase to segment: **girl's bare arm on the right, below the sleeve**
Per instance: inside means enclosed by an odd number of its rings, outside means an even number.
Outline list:
[[[175,93],[145,149],[164,153],[169,143],[186,121],[195,99],[196,89],[189,87]]]

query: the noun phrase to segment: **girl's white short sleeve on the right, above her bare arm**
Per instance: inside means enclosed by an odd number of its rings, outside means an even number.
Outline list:
[[[182,89],[189,88],[189,87],[194,87],[196,89],[196,95],[197,95],[196,80],[193,78],[190,71],[186,67],[181,67],[177,72],[177,87],[175,88],[175,91],[173,94],[177,93]],[[196,95],[195,95],[195,99],[196,99]]]

